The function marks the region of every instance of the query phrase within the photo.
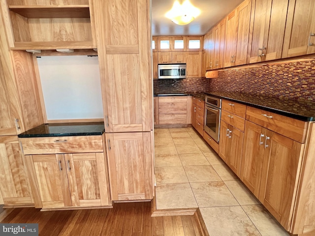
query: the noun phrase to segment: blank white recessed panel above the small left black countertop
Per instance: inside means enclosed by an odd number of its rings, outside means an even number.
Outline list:
[[[47,119],[103,118],[97,57],[37,58]]]

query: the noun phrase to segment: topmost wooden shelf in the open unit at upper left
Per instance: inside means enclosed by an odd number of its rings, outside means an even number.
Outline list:
[[[9,9],[27,18],[90,18],[89,5],[10,5]]]

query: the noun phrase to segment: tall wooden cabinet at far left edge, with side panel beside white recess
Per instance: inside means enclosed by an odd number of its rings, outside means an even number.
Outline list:
[[[34,57],[10,51],[12,32],[5,2],[0,4],[0,191],[6,206],[33,205],[17,135],[43,123]]]

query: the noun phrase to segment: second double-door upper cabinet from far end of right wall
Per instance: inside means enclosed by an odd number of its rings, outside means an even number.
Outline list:
[[[246,64],[251,6],[245,0],[226,17],[224,67]]]

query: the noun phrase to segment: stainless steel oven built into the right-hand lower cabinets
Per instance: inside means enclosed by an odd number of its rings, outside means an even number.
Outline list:
[[[209,95],[205,97],[204,130],[218,143],[220,138],[221,101],[221,98]]]

